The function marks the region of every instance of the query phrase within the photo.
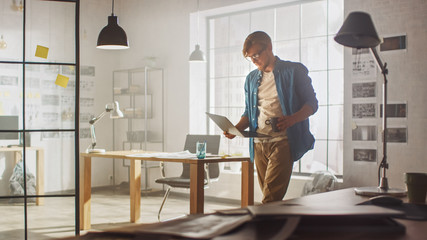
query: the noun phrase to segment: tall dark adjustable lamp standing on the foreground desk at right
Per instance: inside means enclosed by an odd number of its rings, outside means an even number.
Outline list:
[[[384,76],[383,81],[383,99],[382,99],[382,138],[383,138],[383,158],[378,167],[378,187],[360,187],[355,188],[358,195],[377,196],[377,195],[393,195],[405,196],[406,191],[402,189],[390,188],[386,171],[387,163],[387,63],[382,63],[376,46],[380,44],[380,38],[375,30],[371,16],[365,12],[351,12],[345,19],[343,25],[335,36],[335,41],[341,45],[352,48],[369,48],[374,56],[381,73]]]

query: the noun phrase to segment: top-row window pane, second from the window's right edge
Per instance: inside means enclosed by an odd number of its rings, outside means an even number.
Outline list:
[[[326,1],[316,1],[301,5],[301,37],[326,35]]]

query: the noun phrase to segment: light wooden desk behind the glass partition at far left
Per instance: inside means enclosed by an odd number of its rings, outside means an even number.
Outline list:
[[[13,152],[15,165],[22,159],[23,147],[1,147],[0,152]],[[36,195],[44,195],[44,150],[40,147],[25,147],[25,150],[36,151]],[[36,205],[43,205],[44,198],[37,197]]]

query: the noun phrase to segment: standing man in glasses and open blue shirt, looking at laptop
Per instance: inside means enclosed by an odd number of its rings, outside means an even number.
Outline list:
[[[271,38],[265,32],[251,33],[242,52],[258,69],[246,77],[246,108],[236,127],[271,136],[251,138],[249,151],[255,161],[262,202],[280,201],[286,194],[293,162],[313,149],[308,117],[317,111],[316,94],[307,68],[274,56]],[[266,124],[271,117],[278,117],[278,132]],[[235,137],[228,132],[224,135]]]

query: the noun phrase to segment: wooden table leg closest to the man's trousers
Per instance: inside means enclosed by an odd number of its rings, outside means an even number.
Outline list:
[[[254,163],[242,162],[242,207],[254,205]]]

